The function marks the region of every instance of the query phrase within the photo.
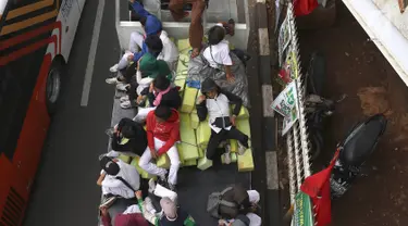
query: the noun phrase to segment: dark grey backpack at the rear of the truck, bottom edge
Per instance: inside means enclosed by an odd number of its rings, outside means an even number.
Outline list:
[[[245,189],[234,186],[208,197],[207,212],[215,218],[235,218],[248,200]]]

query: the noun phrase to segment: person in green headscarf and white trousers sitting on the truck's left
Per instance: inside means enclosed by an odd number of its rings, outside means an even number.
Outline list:
[[[136,95],[138,96],[137,104],[140,104],[144,101],[144,98],[141,98],[143,90],[146,89],[145,92],[148,92],[150,84],[159,75],[162,75],[166,80],[172,79],[172,73],[169,65],[162,60],[157,60],[154,55],[146,53],[139,60],[136,72]],[[128,109],[136,105],[135,95],[129,93],[127,97],[128,98],[121,98],[122,109]]]

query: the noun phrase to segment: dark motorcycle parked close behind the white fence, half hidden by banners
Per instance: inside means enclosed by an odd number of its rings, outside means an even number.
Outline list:
[[[323,123],[334,113],[335,102],[323,98],[323,86],[326,77],[326,61],[320,52],[313,52],[306,73],[305,105],[309,139],[311,142],[310,159],[316,160],[324,148]],[[339,102],[341,100],[336,101]]]

